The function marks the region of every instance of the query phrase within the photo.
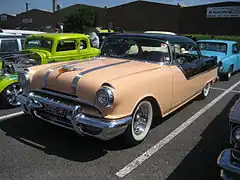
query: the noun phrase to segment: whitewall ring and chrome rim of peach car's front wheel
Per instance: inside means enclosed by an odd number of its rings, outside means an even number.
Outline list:
[[[153,109],[149,101],[142,101],[137,106],[132,120],[132,136],[135,141],[142,141],[148,134],[153,119]]]

